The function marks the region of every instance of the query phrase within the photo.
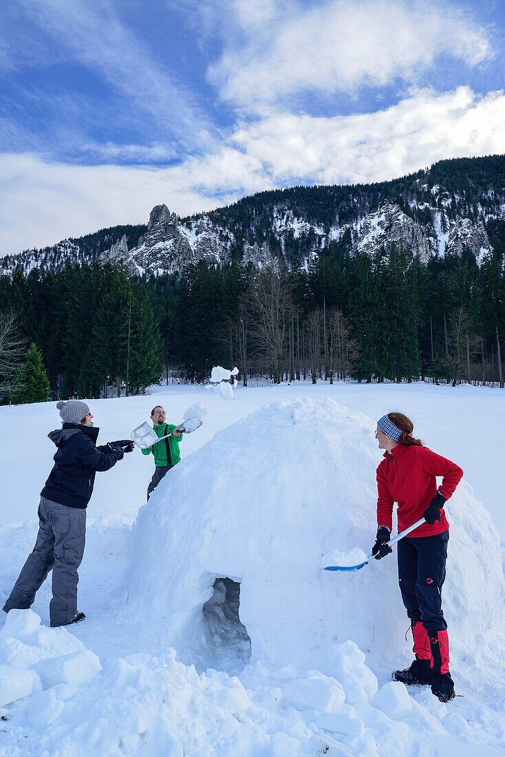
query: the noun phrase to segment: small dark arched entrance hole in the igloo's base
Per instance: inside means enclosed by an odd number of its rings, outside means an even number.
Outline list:
[[[231,578],[216,578],[213,588],[203,607],[208,664],[236,673],[251,658],[251,639],[238,616],[240,584]]]

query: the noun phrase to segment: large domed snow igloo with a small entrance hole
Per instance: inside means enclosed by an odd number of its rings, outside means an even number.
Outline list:
[[[246,662],[332,674],[351,640],[376,665],[410,658],[393,556],[325,572],[320,556],[376,533],[375,422],[335,401],[273,403],[187,456],[139,511],[128,616],[198,669]],[[447,505],[444,610],[451,646],[503,620],[497,531],[469,484]]]

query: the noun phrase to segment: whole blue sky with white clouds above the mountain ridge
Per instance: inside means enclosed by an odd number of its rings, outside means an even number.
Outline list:
[[[0,254],[505,152],[503,0],[9,0]]]

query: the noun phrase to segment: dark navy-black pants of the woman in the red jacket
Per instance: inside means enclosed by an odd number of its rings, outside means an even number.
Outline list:
[[[398,580],[410,620],[421,621],[426,631],[444,631],[442,584],[449,531],[398,542]]]

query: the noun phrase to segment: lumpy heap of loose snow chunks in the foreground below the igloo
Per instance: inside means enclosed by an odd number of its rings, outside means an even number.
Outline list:
[[[64,629],[40,627],[31,610],[13,613],[15,622],[2,630],[2,655],[14,651],[17,665],[6,666],[9,674],[0,679],[3,699],[11,699],[0,706],[5,755],[379,757],[385,748],[416,753],[419,738],[427,749],[458,744],[465,754],[479,753],[474,731],[454,706],[430,702],[431,693],[416,701],[393,681],[378,690],[350,640],[334,650],[340,680],[292,665],[268,670],[260,662],[242,680],[213,670],[198,674],[176,661],[175,650],[110,659],[102,670]],[[61,655],[62,638],[73,653]],[[487,753],[500,751],[490,745]]]

